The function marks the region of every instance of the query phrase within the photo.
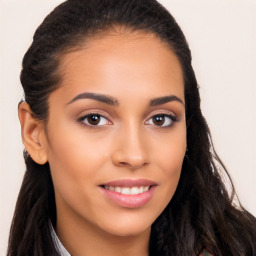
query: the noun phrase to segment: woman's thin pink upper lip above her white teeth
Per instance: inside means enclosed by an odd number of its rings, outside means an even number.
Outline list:
[[[113,180],[101,185],[112,186],[112,187],[141,187],[141,186],[154,186],[154,185],[157,185],[157,183],[147,179],[120,179],[120,180]]]

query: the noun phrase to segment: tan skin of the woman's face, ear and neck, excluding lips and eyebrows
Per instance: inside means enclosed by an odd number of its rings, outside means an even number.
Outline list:
[[[148,255],[151,225],[171,200],[186,150],[182,69],[151,34],[109,33],[61,57],[61,86],[49,97],[45,125],[19,106],[23,142],[39,164],[49,162],[57,207],[56,232],[75,256]],[[112,106],[81,93],[109,95]],[[180,99],[149,106],[153,98]],[[85,115],[103,116],[93,128]],[[172,122],[154,123],[155,115]],[[166,126],[166,124],[171,124]],[[141,207],[123,207],[99,185],[148,179],[157,186]],[[99,246],[100,245],[100,246]]]

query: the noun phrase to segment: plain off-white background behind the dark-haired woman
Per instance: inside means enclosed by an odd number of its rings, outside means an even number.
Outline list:
[[[0,1],[0,255],[24,174],[17,118],[22,57],[61,0]],[[245,208],[256,215],[256,2],[162,0],[183,29],[214,145]]]

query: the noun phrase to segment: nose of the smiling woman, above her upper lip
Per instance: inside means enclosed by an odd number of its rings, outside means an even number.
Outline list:
[[[115,138],[112,162],[118,167],[138,169],[149,164],[145,133],[139,127],[124,129]]]

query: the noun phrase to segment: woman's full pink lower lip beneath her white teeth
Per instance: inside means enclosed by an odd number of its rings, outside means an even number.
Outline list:
[[[137,195],[124,195],[115,191],[107,190],[103,187],[100,189],[104,192],[104,194],[114,201],[116,204],[126,207],[126,208],[138,208],[150,201],[153,197],[156,186],[152,186],[148,191],[143,192]]]

